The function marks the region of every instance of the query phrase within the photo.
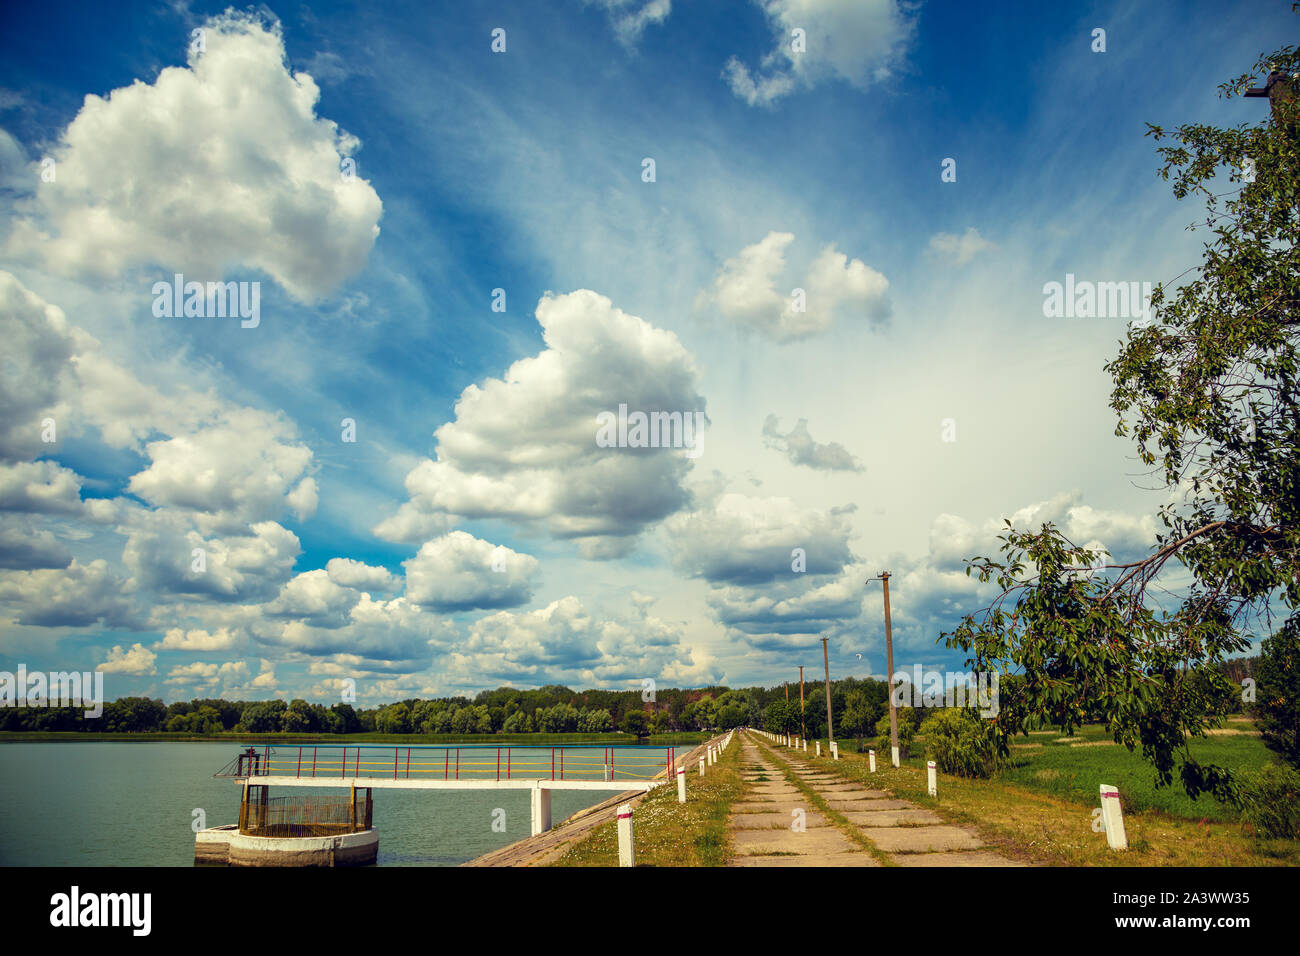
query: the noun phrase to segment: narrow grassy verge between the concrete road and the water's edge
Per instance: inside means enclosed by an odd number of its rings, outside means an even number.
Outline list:
[[[686,771],[686,803],[675,782],[655,787],[633,813],[637,866],[725,866],[732,848],[727,831],[731,805],[744,790],[740,739],[699,777]],[[611,821],[575,842],[551,866],[618,866],[618,825]]]

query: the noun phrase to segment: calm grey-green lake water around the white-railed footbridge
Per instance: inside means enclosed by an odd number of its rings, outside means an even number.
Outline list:
[[[212,777],[238,749],[230,741],[0,744],[0,865],[191,866],[195,809],[207,826],[238,822],[239,786]],[[346,793],[280,791],[315,792]],[[608,796],[556,791],[551,818]],[[497,808],[504,832],[491,829]],[[528,791],[376,790],[374,826],[380,866],[455,866],[529,835]]]

